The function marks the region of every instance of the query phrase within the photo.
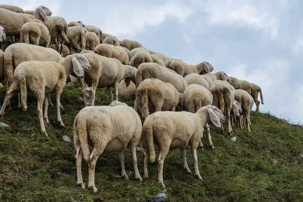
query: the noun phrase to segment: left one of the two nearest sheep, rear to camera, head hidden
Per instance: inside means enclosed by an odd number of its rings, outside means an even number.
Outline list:
[[[115,102],[115,101],[114,101]],[[130,147],[135,170],[135,179],[142,181],[138,171],[136,146],[142,134],[142,123],[139,115],[133,108],[120,102],[111,103],[110,106],[85,107],[76,116],[74,121],[74,146],[76,150],[77,185],[83,189],[82,158],[88,162],[88,188],[94,192],[95,165],[101,154],[118,151],[121,162],[121,175],[128,179],[124,168],[123,149]],[[102,120],[102,121],[100,121]],[[90,153],[89,144],[93,146]]]

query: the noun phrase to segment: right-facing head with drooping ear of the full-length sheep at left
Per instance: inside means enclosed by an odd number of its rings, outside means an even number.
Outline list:
[[[82,56],[81,54],[73,54],[71,56],[72,63],[73,63],[73,71],[74,73],[79,76],[80,78],[84,77],[84,71],[83,68],[87,71],[90,70],[90,65],[89,62],[87,60],[87,58],[85,58],[84,56]]]

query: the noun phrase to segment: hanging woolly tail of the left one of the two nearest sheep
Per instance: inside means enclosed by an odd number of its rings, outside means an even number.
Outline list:
[[[76,126],[78,129],[77,135],[79,137],[81,148],[83,151],[83,158],[86,162],[88,162],[90,152],[89,152],[89,145],[88,145],[88,141],[87,141],[86,120],[83,117],[79,118],[77,116],[75,122],[77,124],[77,126]]]

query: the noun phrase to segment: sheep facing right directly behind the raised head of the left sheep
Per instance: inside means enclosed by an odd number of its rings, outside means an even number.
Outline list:
[[[115,58],[107,58],[99,56],[95,53],[83,54],[87,58],[90,64],[90,71],[85,71],[85,83],[91,86],[91,106],[94,106],[94,98],[96,88],[107,88],[111,102],[113,102],[113,93],[111,86],[115,88],[116,100],[118,100],[118,85],[119,82],[124,79],[126,87],[129,86],[130,81],[136,83],[137,69],[129,65],[122,65]],[[82,94],[84,95],[84,103],[86,104],[85,86],[83,80],[81,80]]]

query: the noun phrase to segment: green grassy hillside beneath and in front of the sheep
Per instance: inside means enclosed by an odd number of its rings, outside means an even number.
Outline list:
[[[62,136],[73,139],[73,121],[84,107],[80,91],[64,88],[61,95],[62,120],[56,123],[54,107],[48,108],[51,122],[46,129],[49,138],[40,133],[36,98],[28,96],[28,110],[18,109],[18,97],[11,99],[12,110],[6,110],[0,128],[0,201],[150,201],[161,192],[157,164],[149,164],[149,179],[143,182],[116,179],[121,174],[117,154],[101,155],[95,171],[97,193],[82,190],[76,184],[73,141],[62,142]],[[0,103],[5,89],[0,88]],[[109,105],[105,89],[98,89],[96,105]],[[55,104],[54,95],[52,95]],[[133,106],[133,100],[123,100]],[[251,134],[233,127],[236,141],[227,134],[211,130],[215,149],[197,151],[198,166],[204,182],[183,171],[179,150],[170,151],[164,162],[163,177],[166,201],[303,201],[302,158],[303,127],[286,124],[269,115],[251,112]],[[142,146],[141,142],[138,146]],[[188,165],[193,172],[192,156],[186,147]],[[133,171],[129,149],[124,150],[125,167]],[[143,154],[137,151],[138,167],[143,177]],[[275,163],[276,161],[276,163]],[[87,163],[82,163],[87,184]]]

